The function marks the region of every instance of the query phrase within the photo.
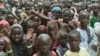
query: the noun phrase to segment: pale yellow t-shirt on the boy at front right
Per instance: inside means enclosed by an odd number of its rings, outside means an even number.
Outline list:
[[[85,48],[80,47],[80,51],[79,52],[72,52],[70,50],[68,50],[64,56],[89,56],[88,52]]]

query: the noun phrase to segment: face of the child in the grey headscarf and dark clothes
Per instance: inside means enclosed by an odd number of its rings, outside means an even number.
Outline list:
[[[19,43],[22,40],[22,36],[23,36],[23,31],[16,27],[13,28],[11,31],[11,40],[14,41],[15,43]]]

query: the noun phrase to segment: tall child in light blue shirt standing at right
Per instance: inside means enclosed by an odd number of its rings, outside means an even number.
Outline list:
[[[97,36],[95,35],[94,29],[88,26],[89,13],[84,10],[80,11],[79,21],[80,28],[77,28],[77,31],[79,31],[81,35],[80,46],[86,48],[90,56],[95,56],[98,40]]]

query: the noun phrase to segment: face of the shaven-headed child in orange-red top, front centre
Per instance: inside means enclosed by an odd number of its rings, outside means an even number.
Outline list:
[[[51,47],[50,39],[39,41],[39,47],[42,53],[47,53]]]

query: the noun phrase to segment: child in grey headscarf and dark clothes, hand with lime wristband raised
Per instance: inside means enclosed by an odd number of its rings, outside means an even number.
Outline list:
[[[14,24],[11,27],[11,46],[14,56],[31,56],[32,55],[32,43],[30,41],[32,36],[27,36],[27,41],[23,40],[23,28],[19,24]]]

